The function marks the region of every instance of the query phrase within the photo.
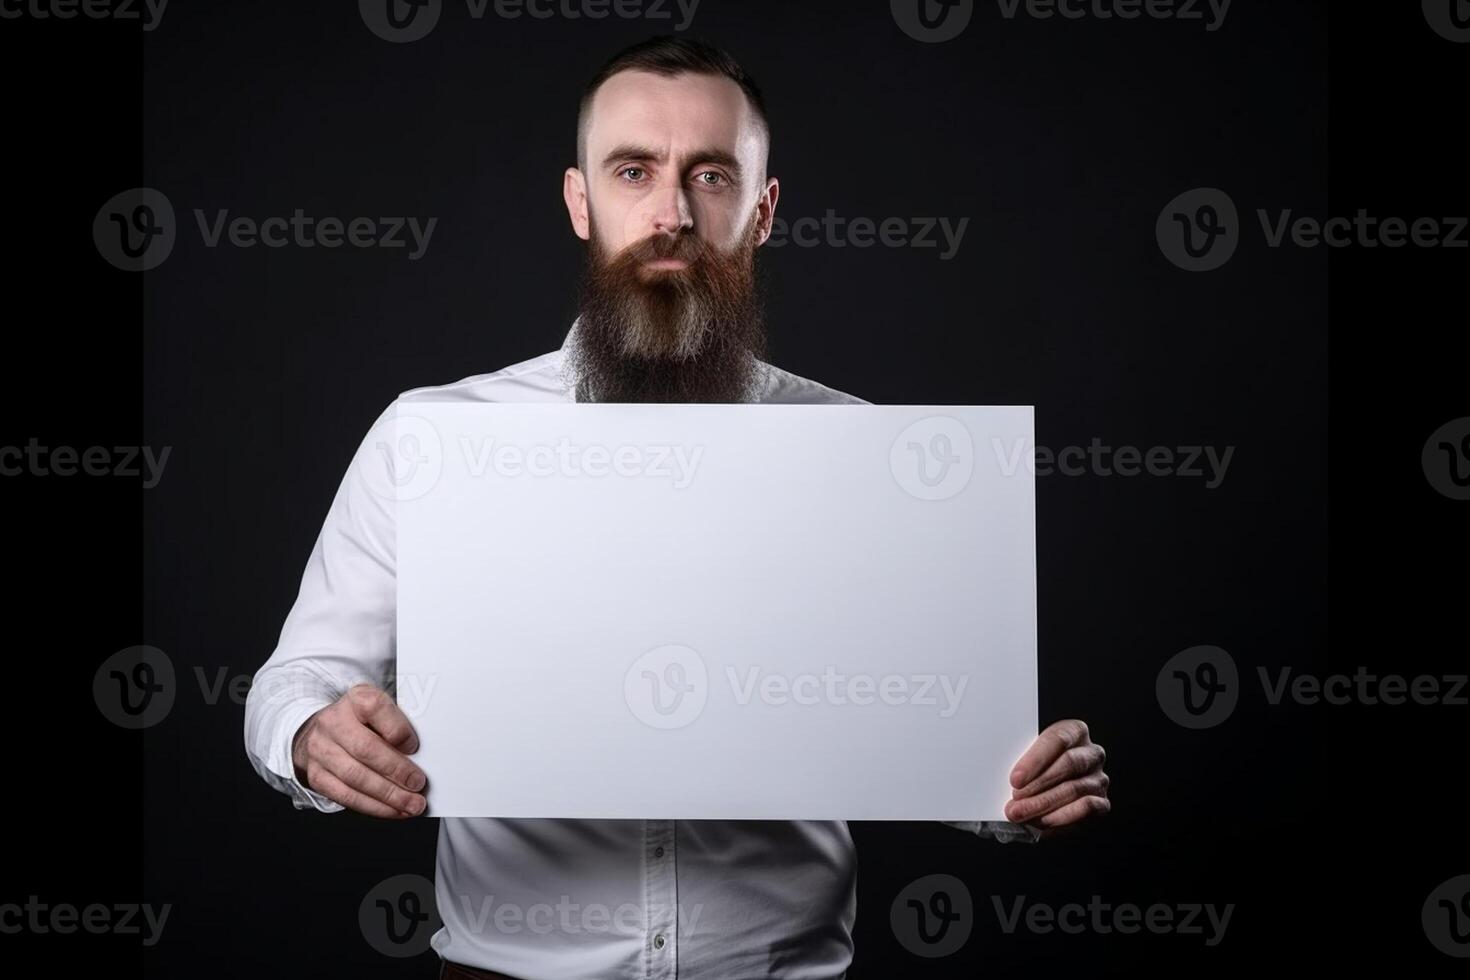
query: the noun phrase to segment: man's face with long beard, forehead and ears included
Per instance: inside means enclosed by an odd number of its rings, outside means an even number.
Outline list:
[[[604,106],[607,87],[625,75],[635,78]],[[764,170],[764,137],[744,93],[725,78],[625,72],[598,90],[589,118],[595,166],[587,185],[595,192],[575,192],[582,175],[569,172],[567,182],[573,226],[588,241],[570,356],[582,394],[744,400],[764,351],[756,250],[769,237],[776,194],[775,181],[751,192],[753,172]],[[754,141],[744,132],[753,125]]]

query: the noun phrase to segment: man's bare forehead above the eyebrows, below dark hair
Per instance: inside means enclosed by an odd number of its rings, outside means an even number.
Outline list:
[[[714,147],[753,167],[763,151],[760,122],[741,87],[723,75],[689,72],[626,71],[603,82],[588,115],[588,166],[628,143],[673,151]]]

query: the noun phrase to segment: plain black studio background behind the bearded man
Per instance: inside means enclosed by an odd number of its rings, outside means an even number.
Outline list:
[[[172,447],[148,491],[0,482],[18,633],[0,901],[173,907],[146,952],[84,934],[7,948],[159,977],[434,976],[432,954],[373,952],[357,904],[391,874],[432,874],[437,824],[293,810],[250,770],[243,707],[207,704],[194,670],[248,677],[269,655],[351,451],[398,391],[560,344],[584,248],[560,198],[576,98],[606,57],[663,29],[450,4],[428,38],[394,46],[350,3],[182,0],[148,34],[0,21],[0,442]],[[875,403],[1035,404],[1048,447],[1235,447],[1217,489],[1038,478],[1041,716],[1092,726],[1113,814],[1039,846],[853,824],[851,976],[1454,970],[1419,914],[1470,871],[1464,708],[1269,707],[1247,683],[1226,724],[1186,732],[1154,677],[1197,644],[1248,677],[1464,671],[1467,504],[1427,485],[1420,450],[1470,414],[1467,253],[1269,248],[1254,213],[1464,215],[1470,46],[1429,31],[1419,4],[1338,4],[1329,22],[1326,3],[1245,0],[1216,32],[979,4],[932,46],[885,3],[706,0],[688,34],[766,90],[778,216],[970,219],[950,262],[763,250],[775,363]],[[172,256],[144,275],[107,266],[90,235],[101,203],[138,185],[179,216]],[[1158,212],[1194,187],[1226,190],[1247,225],[1211,273],[1154,241]],[[206,248],[196,207],[440,220],[409,262]],[[90,696],[97,664],[134,644],[181,679],[146,733]],[[922,961],[888,905],[935,871],[963,879],[980,914],[963,951]],[[1008,936],[988,901],[1095,893],[1236,908],[1207,948]]]

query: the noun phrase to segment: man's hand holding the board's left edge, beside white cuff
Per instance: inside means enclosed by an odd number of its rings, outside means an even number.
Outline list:
[[[388,820],[417,817],[428,807],[423,770],[409,761],[419,736],[387,692],[353,685],[307,718],[291,742],[295,777],[328,799]]]

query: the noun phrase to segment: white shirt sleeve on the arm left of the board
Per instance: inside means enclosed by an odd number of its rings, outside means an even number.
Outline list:
[[[245,754],[297,810],[343,810],[301,785],[291,742],[301,724],[357,683],[392,693],[397,652],[395,520],[385,455],[397,403],[357,447],[322,530],[275,652],[245,696]]]

